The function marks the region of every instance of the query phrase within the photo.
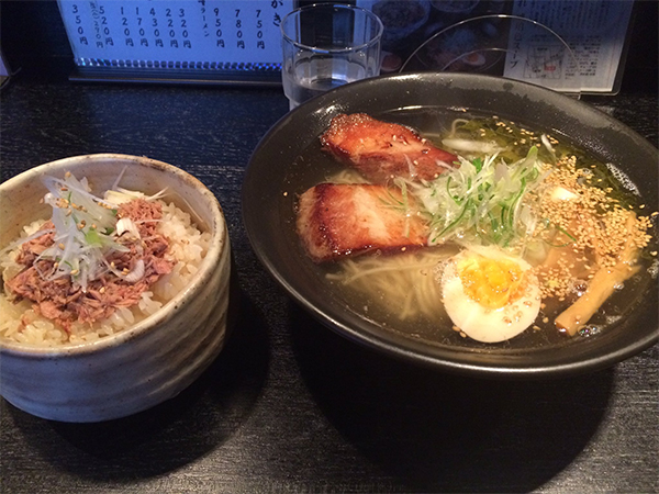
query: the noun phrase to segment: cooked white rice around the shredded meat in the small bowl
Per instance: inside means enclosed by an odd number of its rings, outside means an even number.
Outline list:
[[[40,347],[96,341],[146,318],[180,293],[198,272],[209,249],[211,234],[200,232],[190,215],[174,203],[159,202],[163,205],[163,220],[158,223],[157,231],[168,238],[168,255],[177,262],[169,274],[163,276],[152,285],[150,291],[142,294],[137,305],[118,307],[110,317],[91,325],[75,323],[70,334],[67,334],[52,321],[37,315],[32,308],[31,301],[22,300],[12,303],[2,292],[0,293],[0,338]],[[40,221],[25,226],[23,235],[27,236],[36,232],[43,223],[44,221]],[[15,276],[18,270],[22,269],[15,262],[19,248],[0,260],[0,271],[5,278]],[[23,326],[21,318],[29,323]]]

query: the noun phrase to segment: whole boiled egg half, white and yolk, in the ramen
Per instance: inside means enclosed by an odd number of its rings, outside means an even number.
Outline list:
[[[451,257],[440,281],[448,316],[478,341],[511,339],[540,311],[540,289],[530,265],[494,247],[468,248]]]

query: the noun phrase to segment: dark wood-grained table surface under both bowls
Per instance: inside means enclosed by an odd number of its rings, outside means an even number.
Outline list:
[[[656,92],[584,100],[657,146]],[[153,409],[76,425],[1,401],[2,492],[658,492],[659,346],[572,379],[479,381],[372,352],[287,297],[241,220],[250,153],[287,110],[278,88],[2,91],[2,180],[107,151],[185,168],[224,207],[242,294],[217,360]]]

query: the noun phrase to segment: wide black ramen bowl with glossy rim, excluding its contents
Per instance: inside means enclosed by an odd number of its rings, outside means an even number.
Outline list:
[[[619,305],[617,322],[590,336],[526,330],[509,341],[485,345],[460,338],[448,324],[437,328],[439,337],[420,337],[391,321],[365,314],[359,303],[326,280],[323,267],[306,257],[294,231],[297,197],[322,181],[332,167],[331,158],[320,149],[319,136],[333,116],[356,112],[415,126],[422,133],[432,126],[435,112],[456,117],[465,112],[498,115],[615,164],[651,211],[659,202],[658,150],[599,110],[554,91],[482,75],[429,72],[384,76],[337,88],[290,112],[268,132],[252,156],[243,186],[243,220],[256,255],[290,296],[319,321],[394,357],[445,371],[506,379],[602,369],[658,340],[656,276],[647,276],[628,296],[611,302]]]

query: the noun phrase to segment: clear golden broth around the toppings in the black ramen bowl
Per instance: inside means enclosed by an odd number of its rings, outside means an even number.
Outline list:
[[[632,206],[638,206],[641,198],[635,195],[635,186],[626,179],[623,175],[616,172],[615,167],[608,167],[595,157],[587,154],[579,149],[577,146],[569,143],[568,138],[562,135],[551,133],[551,130],[534,130],[536,139],[530,139],[530,134],[526,134],[524,130],[524,137],[526,142],[521,143],[520,139],[515,139],[514,135],[518,134],[521,130],[525,128],[522,123],[516,122],[514,125],[510,125],[511,132],[505,130],[507,122],[504,120],[504,115],[492,117],[491,115],[481,115],[476,113],[467,113],[465,111],[440,109],[440,108],[423,108],[412,110],[394,110],[382,114],[371,114],[371,116],[383,120],[387,122],[398,123],[401,125],[410,126],[425,138],[433,141],[438,147],[446,148],[449,151],[465,156],[465,153],[456,151],[447,148],[440,142],[440,139],[451,132],[451,126],[456,120],[477,121],[470,125],[476,128],[483,125],[501,131],[502,141],[505,142],[510,138],[511,142],[516,145],[507,146],[501,156],[504,156],[506,162],[512,162],[517,157],[522,158],[526,156],[532,145],[539,142],[539,137],[543,133],[547,133],[552,136],[554,153],[557,156],[577,156],[578,167],[589,167],[596,170],[604,183],[612,184],[616,194],[619,198],[621,203]],[[503,122],[503,125],[498,122]],[[523,137],[523,138],[524,138]],[[543,160],[550,158],[550,154],[546,146],[540,146],[539,156]],[[594,168],[593,168],[594,167]],[[611,169],[613,172],[611,171]],[[623,179],[622,181],[616,179]],[[555,299],[545,299],[543,307],[535,323],[523,332],[521,335],[496,344],[483,344],[466,337],[457,328],[454,327],[451,319],[448,317],[446,310],[442,303],[442,289],[437,283],[436,279],[440,274],[442,263],[446,261],[450,256],[455,255],[459,250],[455,245],[445,245],[438,247],[432,247],[421,249],[417,251],[409,251],[399,254],[395,256],[381,255],[381,252],[368,252],[361,256],[357,256],[353,259],[340,260],[337,262],[327,262],[322,265],[315,265],[309,259],[302,248],[301,242],[295,234],[295,217],[294,217],[294,204],[295,198],[299,197],[310,187],[313,187],[323,181],[343,181],[347,177],[355,177],[356,172],[353,170],[346,170],[346,168],[337,162],[335,158],[328,156],[321,149],[320,139],[315,139],[299,155],[295,162],[292,164],[284,183],[284,194],[281,201],[281,217],[286,218],[286,223],[290,225],[287,229],[289,236],[289,245],[298,248],[299,261],[302,269],[309,271],[310,276],[316,277],[320,283],[324,287],[325,296],[333,297],[340,305],[345,306],[346,311],[353,312],[360,318],[371,321],[390,332],[399,335],[403,335],[409,338],[422,340],[428,345],[434,346],[459,346],[465,349],[473,349],[478,351],[506,351],[521,350],[527,351],[533,348],[545,348],[547,346],[562,346],[562,345],[574,345],[583,341],[587,337],[592,337],[599,333],[606,332],[610,327],[616,325],[626,314],[629,314],[635,307],[641,302],[646,292],[651,289],[652,276],[649,271],[657,269],[656,258],[649,256],[650,250],[657,250],[656,246],[656,225],[652,231],[648,233],[652,235],[651,244],[648,248],[641,251],[639,259],[640,269],[632,278],[626,280],[618,290],[611,295],[606,302],[600,307],[600,311],[589,321],[588,325],[581,329],[573,337],[569,337],[559,333],[554,325],[554,319],[561,313],[567,306],[573,302],[571,301],[558,301]],[[648,206],[650,207],[650,206]],[[638,210],[636,210],[638,211]],[[651,211],[641,211],[639,214],[649,215]],[[398,259],[393,259],[398,258]],[[355,274],[355,270],[359,270],[360,266],[367,266],[372,268],[375,262],[389,262],[401,265],[401,271],[391,272],[389,288],[378,287],[377,283],[365,283],[364,280],[368,279],[368,276],[362,276],[360,282],[344,283],[344,280],[351,274]],[[434,259],[434,261],[433,261]],[[409,283],[406,280],[405,265],[413,265],[422,262],[427,268],[422,268],[424,274],[420,277],[420,281],[415,284]],[[654,266],[654,268],[651,268]],[[399,287],[394,287],[395,281],[399,280]],[[435,284],[431,289],[429,293],[424,296],[435,297],[435,310],[428,314],[428,311],[410,308],[410,297],[416,289],[420,289],[418,284],[424,287]],[[393,287],[393,289],[392,289]],[[399,289],[398,291],[395,289]],[[425,290],[425,289],[424,289]],[[434,290],[434,291],[433,291]],[[421,290],[423,291],[423,290]],[[568,303],[570,302],[570,303]],[[424,302],[429,305],[428,300]],[[405,308],[406,307],[406,308]],[[401,317],[402,313],[406,313]]]

